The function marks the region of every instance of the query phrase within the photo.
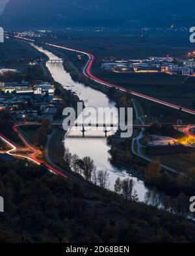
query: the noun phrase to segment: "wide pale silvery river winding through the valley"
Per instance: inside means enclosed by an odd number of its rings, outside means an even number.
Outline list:
[[[34,45],[33,45],[34,46]],[[59,59],[53,53],[44,50],[38,46],[34,46],[36,50],[41,51],[49,59]],[[70,89],[75,92],[81,100],[85,102],[86,107],[114,107],[114,118],[113,121],[118,121],[118,111],[115,108],[115,103],[110,102],[109,98],[102,92],[96,91],[90,87],[86,87],[83,83],[73,81],[70,74],[64,70],[61,63],[47,63],[47,68],[53,79],[60,83],[65,89]],[[84,109],[85,111],[85,109]],[[80,136],[78,136],[80,135]],[[98,135],[98,136],[97,136]],[[94,137],[96,136],[96,137]],[[135,190],[138,194],[139,201],[146,202],[152,205],[161,204],[162,195],[161,193],[154,192],[147,188],[144,182],[136,177],[135,171],[127,171],[125,169],[118,169],[110,164],[109,150],[110,147],[107,145],[107,140],[103,137],[103,132],[86,132],[85,138],[82,137],[81,132],[68,132],[64,139],[64,147],[69,149],[72,154],[77,154],[79,158],[90,156],[94,160],[98,170],[106,170],[109,172],[109,189],[113,190],[116,178],[121,179],[131,177],[135,181]]]

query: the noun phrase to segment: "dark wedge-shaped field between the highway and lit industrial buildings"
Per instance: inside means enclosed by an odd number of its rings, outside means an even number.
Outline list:
[[[110,83],[181,106],[192,108],[195,99],[195,77],[186,79],[184,76],[164,73],[114,73],[102,69],[99,72],[95,69],[93,74]]]

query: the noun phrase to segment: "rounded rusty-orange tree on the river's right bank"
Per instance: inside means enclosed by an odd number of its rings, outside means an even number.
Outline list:
[[[145,169],[146,182],[156,184],[161,176],[161,165],[159,159],[153,160]]]

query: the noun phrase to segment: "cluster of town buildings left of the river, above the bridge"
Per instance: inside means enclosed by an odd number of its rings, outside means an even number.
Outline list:
[[[0,109],[10,109],[16,121],[37,121],[48,117],[53,121],[57,109],[64,102],[55,98],[55,89],[50,83],[36,81],[0,82]]]

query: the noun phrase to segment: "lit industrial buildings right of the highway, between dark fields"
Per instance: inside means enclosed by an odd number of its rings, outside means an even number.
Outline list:
[[[195,61],[172,57],[149,57],[148,59],[128,59],[123,61],[103,61],[101,68],[116,73],[159,73],[195,76]]]

